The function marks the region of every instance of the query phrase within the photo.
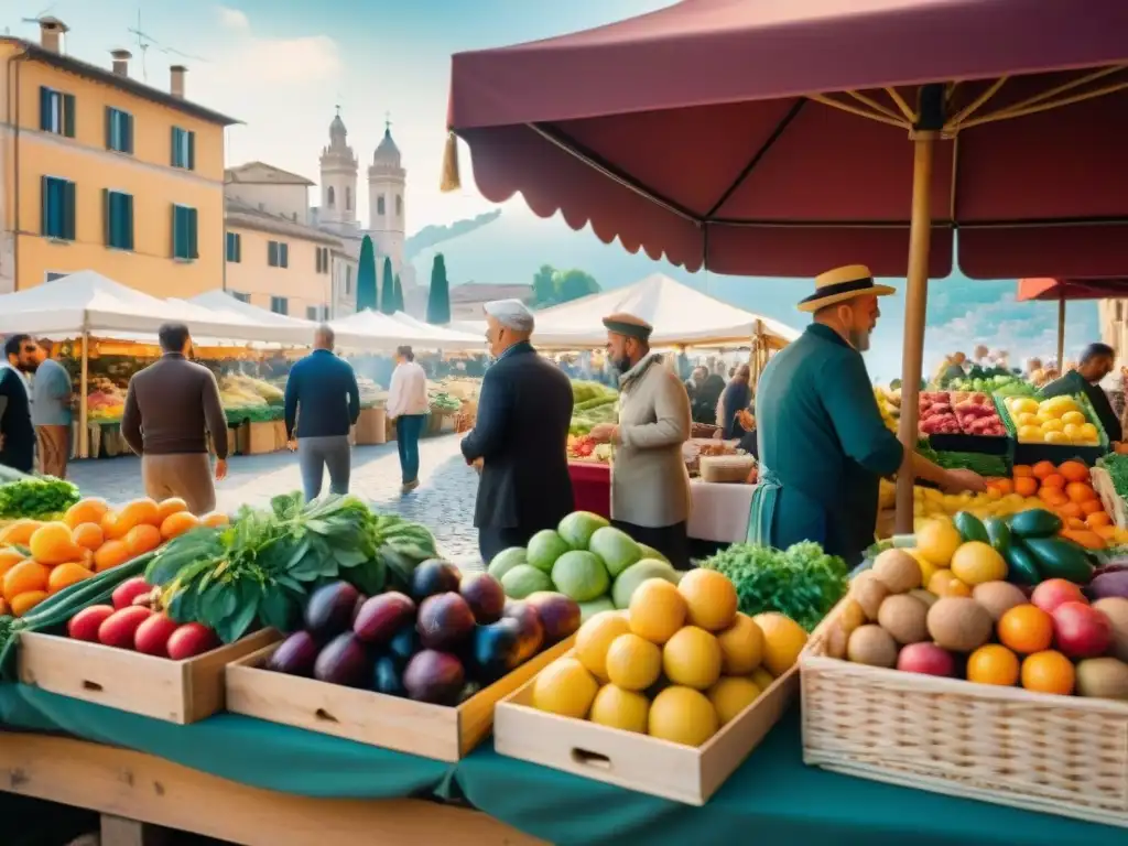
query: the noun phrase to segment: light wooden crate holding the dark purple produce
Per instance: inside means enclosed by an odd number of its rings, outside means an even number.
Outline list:
[[[227,710],[359,743],[457,761],[490,733],[494,705],[571,651],[569,638],[455,707],[263,669],[277,644],[227,668]]]

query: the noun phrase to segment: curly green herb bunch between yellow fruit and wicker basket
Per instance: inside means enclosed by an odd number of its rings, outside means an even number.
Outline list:
[[[793,544],[783,552],[733,544],[702,566],[729,578],[744,614],[778,611],[808,632],[846,596],[849,587],[846,563],[827,555],[812,541]]]

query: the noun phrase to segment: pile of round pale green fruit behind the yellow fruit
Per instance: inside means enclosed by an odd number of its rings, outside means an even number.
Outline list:
[[[677,584],[678,571],[659,553],[588,511],[575,511],[553,529],[538,531],[528,547],[503,549],[490,562],[490,575],[505,596],[525,599],[557,591],[580,603],[584,620],[626,608],[647,579]]]

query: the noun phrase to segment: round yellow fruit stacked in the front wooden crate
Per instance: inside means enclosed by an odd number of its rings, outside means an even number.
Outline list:
[[[737,610],[713,570],[638,584],[626,611],[601,611],[575,649],[532,682],[535,708],[699,747],[795,663],[807,632],[782,614]]]

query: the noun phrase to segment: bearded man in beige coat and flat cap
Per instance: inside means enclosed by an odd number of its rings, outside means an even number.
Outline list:
[[[689,438],[689,396],[650,351],[653,327],[635,315],[603,319],[607,358],[619,373],[619,422],[591,430],[615,444],[611,522],[676,567],[689,566],[689,475],[681,444]]]

